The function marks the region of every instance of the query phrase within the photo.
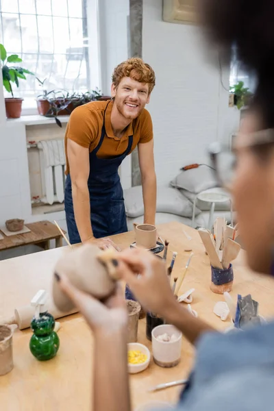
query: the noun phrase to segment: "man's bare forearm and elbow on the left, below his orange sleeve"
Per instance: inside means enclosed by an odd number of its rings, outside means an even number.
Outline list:
[[[90,223],[90,193],[88,191],[89,150],[70,139],[68,139],[67,150],[75,221],[81,241],[84,242],[93,237]]]

